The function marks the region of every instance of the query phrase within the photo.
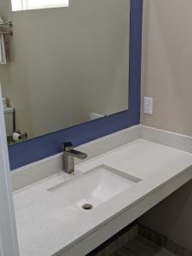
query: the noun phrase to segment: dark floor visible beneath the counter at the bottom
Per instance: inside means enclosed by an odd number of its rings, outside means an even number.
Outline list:
[[[142,236],[137,236],[132,241],[126,243],[116,253],[111,256],[176,256],[168,252],[165,248],[159,247],[152,241],[148,241]]]

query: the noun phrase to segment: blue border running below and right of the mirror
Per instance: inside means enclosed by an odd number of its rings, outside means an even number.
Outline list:
[[[131,0],[129,110],[9,146],[11,170],[140,123],[143,0]]]

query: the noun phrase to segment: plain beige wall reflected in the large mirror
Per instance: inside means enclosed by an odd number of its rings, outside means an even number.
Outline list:
[[[9,19],[13,53],[3,90],[20,130],[39,135],[83,122],[90,112],[127,108],[129,1],[73,0],[69,8]]]

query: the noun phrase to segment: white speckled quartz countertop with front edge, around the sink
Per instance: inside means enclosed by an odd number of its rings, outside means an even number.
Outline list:
[[[48,188],[106,165],[142,181],[89,212]],[[20,256],[85,255],[192,178],[192,154],[137,139],[15,192]],[[74,191],[75,193],[75,191]]]

